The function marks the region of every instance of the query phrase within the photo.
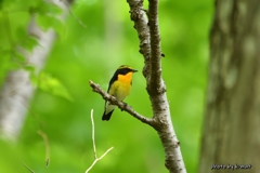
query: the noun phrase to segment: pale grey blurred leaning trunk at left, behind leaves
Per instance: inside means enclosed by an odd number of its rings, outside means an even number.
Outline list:
[[[60,16],[63,21],[65,14],[68,12],[68,4],[70,0],[50,0],[57,6],[64,10],[64,13]],[[31,52],[26,50],[20,50],[26,57],[26,62],[29,65],[40,70],[44,64],[47,56],[49,55],[53,42],[55,41],[55,32],[53,29],[49,29],[47,32],[41,30],[36,22],[35,17],[28,26],[28,34],[34,36],[39,45],[36,45]],[[23,69],[9,72],[6,80],[0,90],[0,135],[1,137],[15,141],[18,136],[21,128],[26,116],[27,106],[34,94],[29,80],[29,72]]]

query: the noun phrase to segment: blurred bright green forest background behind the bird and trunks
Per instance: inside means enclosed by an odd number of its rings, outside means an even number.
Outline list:
[[[1,13],[8,12],[10,22],[10,27],[4,27],[3,15],[0,15],[0,51],[10,48],[6,30],[14,42],[23,44],[22,34],[30,18],[28,9],[39,1],[0,1]],[[144,3],[147,6],[147,2]],[[140,114],[152,117],[141,72],[144,59],[139,53],[128,3],[126,0],[77,0],[70,10],[87,27],[72,14],[63,25],[57,21],[49,24],[55,25],[58,36],[43,71],[58,79],[73,101],[37,89],[17,144],[0,143],[0,172],[29,172],[21,161],[36,173],[84,172],[94,160],[91,109],[94,110],[98,156],[112,146],[114,149],[90,172],[168,172],[157,133],[119,109],[114,111],[110,121],[102,121],[104,101],[88,83],[93,80],[107,90],[116,68],[122,64],[132,66],[140,72],[133,76],[131,94],[126,102]],[[191,173],[197,172],[199,158],[212,12],[212,0],[159,2],[161,50],[166,55],[161,59],[162,76],[173,127]],[[9,64],[10,56],[1,54],[2,81],[6,70],[16,66]],[[49,137],[48,168],[44,142],[38,130]]]

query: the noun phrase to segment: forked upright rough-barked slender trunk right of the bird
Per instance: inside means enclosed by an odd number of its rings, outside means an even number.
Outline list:
[[[146,51],[141,52],[145,59],[145,67],[144,67],[143,74],[146,78],[146,89],[152,103],[154,114],[153,119],[156,123],[156,127],[154,128],[158,132],[166,154],[166,168],[171,173],[185,173],[186,169],[180,150],[180,142],[173,130],[169,103],[166,95],[166,85],[161,78],[158,0],[150,0],[150,9],[147,13],[148,25],[143,22],[146,19],[143,11],[143,0],[127,0],[127,2],[130,6],[131,19],[134,22],[134,28],[139,35],[140,48],[145,48],[143,51]],[[143,44],[144,41],[150,45]]]

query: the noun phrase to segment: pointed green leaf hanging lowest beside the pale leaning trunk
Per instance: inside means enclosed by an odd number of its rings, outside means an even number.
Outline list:
[[[38,88],[44,92],[61,96],[73,102],[73,97],[69,95],[66,88],[61,83],[58,79],[52,77],[50,74],[40,72]]]

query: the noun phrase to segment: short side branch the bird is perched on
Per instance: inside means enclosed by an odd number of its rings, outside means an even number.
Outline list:
[[[132,115],[134,118],[139,119],[140,121],[150,124],[151,127],[155,128],[155,120],[151,118],[146,118],[135,110],[133,110],[130,106],[128,106],[126,103],[117,101],[114,96],[109,95],[107,92],[101,89],[101,86],[93,81],[89,81],[90,86],[93,89],[94,92],[101,94],[105,101],[109,101],[110,104],[118,106],[121,110],[125,110]]]

